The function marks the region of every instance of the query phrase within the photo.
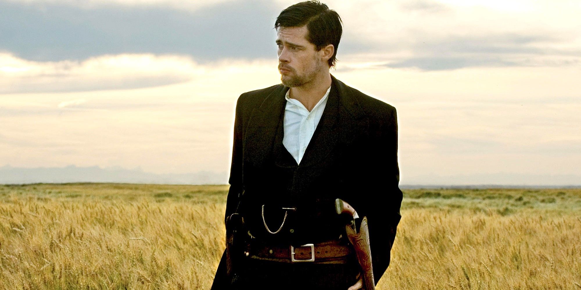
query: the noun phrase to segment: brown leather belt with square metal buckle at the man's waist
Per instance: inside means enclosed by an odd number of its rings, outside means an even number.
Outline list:
[[[327,241],[298,247],[282,245],[249,245],[246,256],[275,262],[347,263],[354,257],[351,245],[343,241]]]

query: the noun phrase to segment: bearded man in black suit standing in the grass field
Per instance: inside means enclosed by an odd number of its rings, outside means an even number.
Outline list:
[[[236,104],[225,221],[238,236],[212,289],[360,289],[336,198],[367,216],[376,284],[400,220],[396,110],[329,73],[342,23],[327,5],[292,5],[275,28],[282,84]]]

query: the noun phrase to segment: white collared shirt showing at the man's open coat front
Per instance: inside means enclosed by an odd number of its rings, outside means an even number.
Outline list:
[[[310,112],[299,100],[290,99],[289,92],[290,89],[286,92],[285,96],[286,107],[282,144],[284,144],[290,155],[295,158],[296,163],[300,164],[304,156],[304,151],[307,150],[315,128],[317,128],[323,111],[325,110],[329,92],[331,92],[331,86],[327,89],[325,96],[319,100]]]

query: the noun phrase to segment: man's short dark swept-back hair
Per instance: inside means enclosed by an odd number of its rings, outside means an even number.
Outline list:
[[[307,26],[307,40],[317,47],[317,51],[332,44],[335,48],[329,59],[330,67],[335,66],[337,47],[341,40],[343,21],[335,10],[319,1],[296,3],[282,10],[274,23],[274,28]]]

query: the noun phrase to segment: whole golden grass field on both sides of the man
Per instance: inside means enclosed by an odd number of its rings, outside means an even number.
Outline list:
[[[209,289],[228,186],[0,185],[0,289]],[[581,289],[581,189],[404,190],[377,289]]]

